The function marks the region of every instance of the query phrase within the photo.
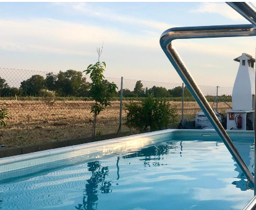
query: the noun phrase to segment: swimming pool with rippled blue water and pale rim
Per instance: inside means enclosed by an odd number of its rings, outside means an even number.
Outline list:
[[[253,171],[254,132],[229,131]],[[165,130],[0,159],[0,209],[242,209],[254,196],[214,130]]]

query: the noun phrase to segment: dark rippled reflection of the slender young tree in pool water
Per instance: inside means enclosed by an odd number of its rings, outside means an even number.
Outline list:
[[[117,159],[118,160],[118,159]],[[92,172],[92,177],[87,180],[85,191],[83,191],[83,204],[75,206],[78,210],[97,209],[98,193],[111,193],[111,181],[106,181],[108,166],[101,167],[99,161],[88,162],[88,171]]]

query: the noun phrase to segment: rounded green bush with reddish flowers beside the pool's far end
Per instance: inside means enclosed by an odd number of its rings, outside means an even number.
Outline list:
[[[161,98],[148,98],[140,102],[130,101],[126,104],[126,122],[124,125],[140,132],[163,130],[169,124],[177,124],[177,107]]]

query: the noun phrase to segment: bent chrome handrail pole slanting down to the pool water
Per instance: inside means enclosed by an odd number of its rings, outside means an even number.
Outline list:
[[[256,30],[254,25],[221,25],[170,28],[164,31],[161,35],[160,45],[164,53],[168,57],[169,61],[171,61],[171,64],[173,64],[174,69],[176,69],[177,73],[182,78],[187,88],[189,88],[190,93],[192,93],[198,105],[201,107],[202,111],[205,113],[205,115],[207,115],[208,119],[220,136],[221,140],[223,140],[224,145],[226,145],[239,167],[241,167],[247,179],[254,184],[254,177],[252,176],[250,170],[246,166],[244,160],[242,159],[233,142],[229,138],[228,133],[226,133],[226,130],[224,130],[215,112],[213,111],[213,109],[211,109],[210,104],[208,103],[205,96],[203,96],[202,91],[200,91],[200,89],[198,88],[197,83],[195,83],[194,78],[192,78],[192,75],[190,75],[189,70],[187,70],[186,65],[184,64],[184,62],[182,62],[181,58],[177,54],[176,50],[173,48],[172,44],[172,41],[177,39],[218,38],[236,36],[256,36]]]

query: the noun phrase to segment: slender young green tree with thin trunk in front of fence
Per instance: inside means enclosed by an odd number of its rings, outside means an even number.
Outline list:
[[[92,136],[95,140],[95,128],[96,128],[96,118],[101,111],[105,109],[106,106],[110,106],[111,94],[116,92],[117,86],[114,83],[110,83],[104,80],[104,68],[106,68],[105,62],[96,62],[96,64],[90,64],[85,70],[86,74],[90,74],[92,83],[89,84],[90,96],[92,96],[95,104],[91,108],[91,113],[93,113],[93,131]]]

